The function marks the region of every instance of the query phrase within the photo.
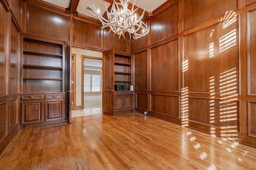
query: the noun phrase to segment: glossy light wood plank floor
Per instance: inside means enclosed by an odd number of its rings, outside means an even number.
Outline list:
[[[149,116],[72,118],[20,130],[1,170],[256,169],[256,149]]]

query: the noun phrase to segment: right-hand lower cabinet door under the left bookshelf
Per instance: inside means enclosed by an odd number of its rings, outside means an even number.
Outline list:
[[[55,121],[63,119],[63,100],[45,101],[45,121]]]

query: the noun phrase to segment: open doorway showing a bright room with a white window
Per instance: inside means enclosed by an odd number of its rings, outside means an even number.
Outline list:
[[[84,115],[102,113],[102,59],[83,56],[83,108]]]

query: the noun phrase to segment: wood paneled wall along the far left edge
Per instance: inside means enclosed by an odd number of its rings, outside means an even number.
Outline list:
[[[21,6],[0,0],[0,152],[19,129]]]

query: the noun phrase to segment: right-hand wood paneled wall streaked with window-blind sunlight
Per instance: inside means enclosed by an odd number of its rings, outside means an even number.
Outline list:
[[[147,45],[131,40],[136,110],[256,147],[255,2],[170,0],[153,11]]]

